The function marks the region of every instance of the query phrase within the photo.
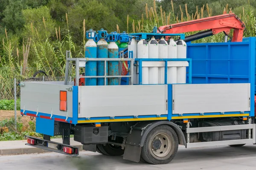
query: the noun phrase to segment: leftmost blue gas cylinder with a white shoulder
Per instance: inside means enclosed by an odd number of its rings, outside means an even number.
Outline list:
[[[85,44],[85,57],[96,58],[97,57],[97,45],[94,42],[96,31],[90,29],[86,31],[86,38],[88,41]],[[97,62],[87,61],[85,65],[85,76],[96,76],[97,75]],[[97,85],[96,78],[86,78],[85,85]]]

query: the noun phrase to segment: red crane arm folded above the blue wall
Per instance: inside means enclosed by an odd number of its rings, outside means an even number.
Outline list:
[[[230,30],[234,29],[232,42],[241,42],[244,28],[244,23],[240,18],[236,16],[236,14],[230,13],[161,26],[159,30],[163,34],[179,34],[202,30],[211,30],[212,34],[218,34],[222,31],[226,34],[230,34]]]

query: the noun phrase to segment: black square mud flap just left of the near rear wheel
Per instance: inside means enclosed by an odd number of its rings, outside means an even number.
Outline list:
[[[132,146],[127,144],[125,146],[125,153],[123,156],[123,159],[139,162],[140,161],[140,153],[141,153],[141,147]]]

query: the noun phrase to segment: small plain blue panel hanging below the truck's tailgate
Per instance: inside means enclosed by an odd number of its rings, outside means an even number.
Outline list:
[[[49,136],[54,136],[54,119],[36,118],[35,131]]]

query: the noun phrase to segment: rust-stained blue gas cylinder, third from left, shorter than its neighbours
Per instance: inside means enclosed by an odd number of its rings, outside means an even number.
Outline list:
[[[116,45],[117,34],[108,34],[108,58],[118,58],[118,46]],[[119,75],[119,61],[108,62],[108,75],[118,76]],[[108,85],[119,85],[118,78],[109,78]]]

